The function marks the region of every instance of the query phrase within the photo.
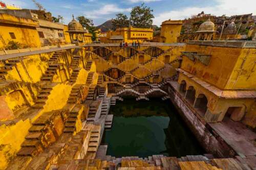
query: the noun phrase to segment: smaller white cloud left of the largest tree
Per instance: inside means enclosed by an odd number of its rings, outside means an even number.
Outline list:
[[[89,18],[100,18],[100,17],[104,17],[104,15],[108,15],[112,13],[129,12],[129,11],[131,11],[131,8],[119,8],[116,4],[106,4],[97,10],[84,12],[84,15],[86,15]]]

